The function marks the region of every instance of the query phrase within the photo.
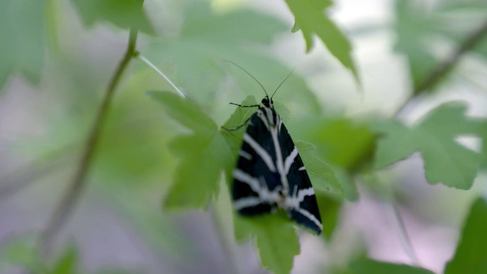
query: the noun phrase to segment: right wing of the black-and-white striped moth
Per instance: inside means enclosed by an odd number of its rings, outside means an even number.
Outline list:
[[[281,125],[281,130],[279,131],[279,144],[281,146],[284,164],[286,165],[286,161],[291,163],[287,172],[289,195],[292,196],[297,188],[297,197],[302,197],[299,208],[288,210],[288,214],[291,219],[315,231],[319,235],[323,227],[315,192],[300,154],[297,153],[293,139],[291,139],[284,124]]]

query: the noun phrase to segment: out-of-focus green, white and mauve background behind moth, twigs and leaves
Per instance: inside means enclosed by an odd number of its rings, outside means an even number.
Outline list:
[[[204,210],[163,207],[180,162],[170,140],[188,131],[147,96],[173,89],[140,60],[116,90],[86,186],[52,254],[33,259],[39,232],[79,165],[128,30],[98,14],[95,1],[2,1],[10,8],[0,12],[0,273],[26,266],[57,273],[267,273],[255,245],[235,241],[223,179]],[[438,84],[414,93],[486,24],[485,1],[334,1],[326,12],[351,42],[360,82],[317,37],[306,53],[282,0],[146,0],[144,11],[149,27],[138,50],[218,125],[235,110],[228,102],[264,96],[223,60],[243,66],[269,91],[295,69],[275,101],[285,106],[291,136],[314,143],[336,170],[344,197],[330,209],[333,223],[324,223],[333,230],[327,239],[298,230],[301,253],[292,273],[346,273],[364,254],[443,271],[470,203],[487,194],[484,172],[472,189],[457,190],[428,184],[418,153],[376,170],[369,125],[393,117],[412,125],[451,100],[467,102],[468,116],[487,116],[487,39],[462,53]],[[481,138],[458,141],[482,149]]]

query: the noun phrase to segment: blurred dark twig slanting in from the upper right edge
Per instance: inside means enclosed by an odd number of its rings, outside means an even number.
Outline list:
[[[475,30],[472,34],[468,35],[465,40],[460,44],[457,51],[454,53],[444,62],[441,62],[436,68],[434,68],[428,76],[424,78],[422,82],[420,82],[417,86],[414,87],[410,97],[399,107],[399,109],[393,113],[393,116],[399,116],[404,109],[406,109],[413,100],[417,98],[417,95],[423,93],[423,91],[432,88],[436,85],[445,75],[447,75],[454,66],[457,65],[459,60],[463,55],[468,53],[475,48],[484,37],[487,35],[487,20],[484,24]]]

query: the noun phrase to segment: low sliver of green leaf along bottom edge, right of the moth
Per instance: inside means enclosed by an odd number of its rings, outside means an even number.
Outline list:
[[[358,259],[350,265],[351,274],[433,274],[424,268],[406,264],[391,264],[372,259]]]

